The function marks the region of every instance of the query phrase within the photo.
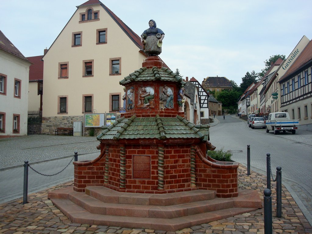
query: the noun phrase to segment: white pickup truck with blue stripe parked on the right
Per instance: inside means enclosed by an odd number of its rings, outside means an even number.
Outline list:
[[[272,130],[274,135],[276,135],[280,131],[283,131],[284,133],[288,131],[295,134],[295,129],[298,129],[298,125],[299,120],[290,119],[288,112],[274,112],[270,113],[266,120],[266,132],[268,133]]]

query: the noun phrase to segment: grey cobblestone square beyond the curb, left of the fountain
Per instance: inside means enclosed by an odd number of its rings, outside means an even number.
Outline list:
[[[99,152],[95,137],[28,135],[0,139],[0,169],[64,156]]]

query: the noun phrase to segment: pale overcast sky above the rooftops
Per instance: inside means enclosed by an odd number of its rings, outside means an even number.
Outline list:
[[[0,30],[26,57],[43,54],[87,0],[0,0]],[[225,76],[238,85],[272,55],[286,57],[312,38],[312,1],[101,1],[139,36],[150,19],[165,33],[160,57],[202,82]]]

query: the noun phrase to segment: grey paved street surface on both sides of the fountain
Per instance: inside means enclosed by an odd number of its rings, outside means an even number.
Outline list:
[[[312,222],[312,132],[298,130],[296,134],[266,133],[251,129],[246,121],[226,115],[216,117],[211,124],[210,141],[217,149],[230,150],[232,160],[246,165],[247,144],[251,149],[251,170],[266,175],[266,154],[271,154],[271,168],[282,167],[282,183],[291,192],[306,218]],[[29,135],[0,139],[0,203],[22,197],[23,163],[44,174],[55,174],[70,162],[75,151],[78,160],[96,158],[100,151],[95,137]],[[28,193],[73,179],[73,164],[55,176],[42,176],[29,168]],[[265,186],[265,185],[264,185]]]

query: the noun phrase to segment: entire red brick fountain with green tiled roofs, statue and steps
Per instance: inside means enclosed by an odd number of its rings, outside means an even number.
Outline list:
[[[102,127],[97,158],[74,162],[74,186],[48,197],[72,222],[166,231],[261,208],[256,191],[238,191],[238,163],[206,156],[209,125],[185,119],[185,82],[164,67],[164,34],[149,26],[148,58],[119,82],[126,112]]]

